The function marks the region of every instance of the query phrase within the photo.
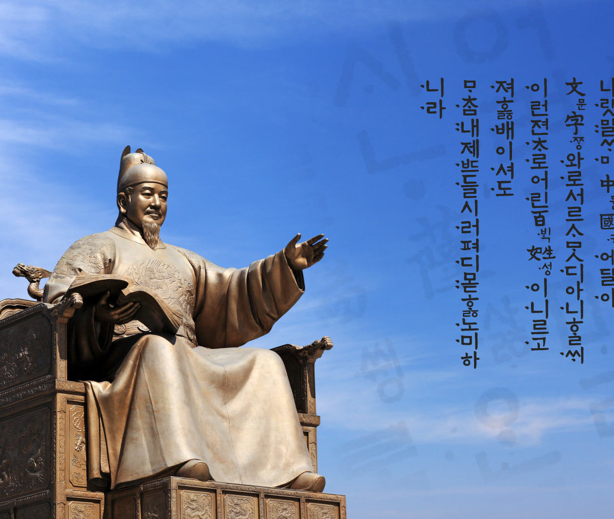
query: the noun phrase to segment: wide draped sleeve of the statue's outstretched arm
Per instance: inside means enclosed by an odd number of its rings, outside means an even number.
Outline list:
[[[283,251],[243,269],[224,269],[194,253],[186,257],[196,274],[199,346],[236,347],[265,335],[305,292],[303,272],[290,268]]]

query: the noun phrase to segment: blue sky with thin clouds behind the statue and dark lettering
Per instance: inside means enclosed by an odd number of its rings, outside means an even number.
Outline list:
[[[319,469],[351,518],[608,517],[614,308],[594,298],[613,212],[594,157],[599,81],[614,76],[610,2],[123,2],[0,4],[0,291],[18,262],[53,267],[115,221],[122,149],[169,176],[163,240],[246,266],[300,231],[330,248],[261,347],[335,347],[317,363]],[[420,84],[445,79],[443,118]],[[515,79],[515,196],[495,197],[497,80]],[[586,93],[584,363],[567,350],[565,82]],[[548,79],[550,350],[533,352],[543,278],[525,85]],[[478,368],[456,343],[461,293],[459,103],[480,104]],[[500,139],[500,136],[496,136]],[[611,267],[611,266],[610,266]],[[538,301],[537,299],[535,301]],[[543,302],[543,299],[542,299]]]

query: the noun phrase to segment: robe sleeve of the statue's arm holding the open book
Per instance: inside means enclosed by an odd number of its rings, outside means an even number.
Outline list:
[[[43,301],[56,303],[80,272],[109,274],[115,259],[115,242],[104,233],[77,240],[62,255],[45,284]],[[113,336],[113,325],[94,320],[97,301],[84,300],[68,325],[68,360],[80,368],[95,366],[106,356]]]

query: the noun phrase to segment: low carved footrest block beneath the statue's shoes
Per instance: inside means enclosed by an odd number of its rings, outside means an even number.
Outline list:
[[[107,493],[107,519],[346,519],[345,496],[168,477]]]

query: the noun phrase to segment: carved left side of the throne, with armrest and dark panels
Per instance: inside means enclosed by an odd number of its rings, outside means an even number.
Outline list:
[[[54,310],[0,319],[0,519],[103,518],[104,493],[87,483],[85,388],[66,380]]]

